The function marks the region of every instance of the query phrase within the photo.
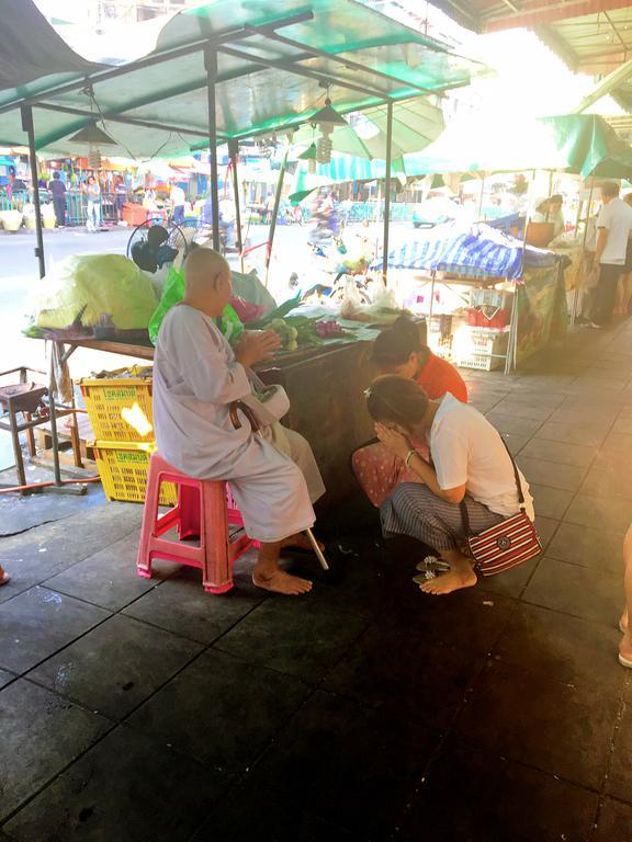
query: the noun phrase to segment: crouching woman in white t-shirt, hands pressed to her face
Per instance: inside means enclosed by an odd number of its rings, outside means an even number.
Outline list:
[[[477,409],[450,392],[440,401],[430,400],[415,380],[397,375],[373,382],[366,390],[366,407],[382,444],[419,477],[417,482],[398,485],[380,507],[384,536],[418,538],[448,562],[450,572],[420,582],[426,593],[452,593],[476,584],[472,561],[461,551],[466,538],[461,501],[475,535],[520,509],[514,464],[498,431]],[[432,465],[411,444],[424,437]],[[518,475],[526,512],[533,521],[529,485]]]

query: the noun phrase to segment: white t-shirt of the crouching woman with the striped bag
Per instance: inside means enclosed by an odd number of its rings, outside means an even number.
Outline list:
[[[511,459],[498,431],[477,409],[447,392],[435,416],[429,443],[441,489],[465,486],[471,497],[490,511],[505,516],[518,513]],[[532,521],[533,499],[522,474],[520,483]]]

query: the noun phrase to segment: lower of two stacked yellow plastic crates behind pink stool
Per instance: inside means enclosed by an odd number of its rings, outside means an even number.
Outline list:
[[[154,442],[94,442],[92,446],[108,500],[144,503]],[[173,482],[163,482],[160,505],[176,505],[177,501]]]

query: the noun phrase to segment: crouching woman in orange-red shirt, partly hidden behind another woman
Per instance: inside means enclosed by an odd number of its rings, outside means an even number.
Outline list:
[[[467,387],[456,368],[421,343],[417,326],[405,316],[380,333],[373,346],[373,362],[381,374],[398,374],[416,380],[431,400],[450,391],[467,403]],[[428,458],[427,443],[417,442],[416,445]],[[419,482],[419,477],[381,442],[360,447],[352,455],[351,464],[366,497],[376,508],[399,482]]]

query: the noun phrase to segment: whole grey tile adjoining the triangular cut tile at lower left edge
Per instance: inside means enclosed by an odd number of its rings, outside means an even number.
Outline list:
[[[91,710],[121,719],[202,648],[115,615],[32,670],[29,678]]]

